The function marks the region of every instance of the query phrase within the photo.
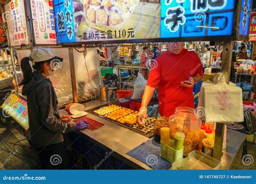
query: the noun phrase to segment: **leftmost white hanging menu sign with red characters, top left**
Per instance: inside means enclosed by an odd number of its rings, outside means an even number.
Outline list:
[[[11,0],[4,5],[11,46],[29,44],[28,29],[23,0]]]

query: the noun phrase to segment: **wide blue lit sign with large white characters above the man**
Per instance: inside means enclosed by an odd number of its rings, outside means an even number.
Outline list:
[[[161,38],[232,33],[234,1],[161,1]]]

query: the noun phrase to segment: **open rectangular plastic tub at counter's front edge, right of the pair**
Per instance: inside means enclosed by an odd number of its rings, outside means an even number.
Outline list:
[[[213,157],[210,157],[209,155],[200,152],[198,150],[194,150],[190,153],[188,153],[188,159],[190,161],[197,161],[200,165],[203,165],[207,167],[208,169],[219,169],[221,162]],[[206,168],[206,169],[207,169]]]

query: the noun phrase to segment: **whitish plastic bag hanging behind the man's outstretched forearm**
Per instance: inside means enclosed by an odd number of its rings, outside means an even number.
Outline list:
[[[138,73],[138,77],[134,82],[134,90],[131,99],[142,99],[147,81],[144,79],[141,73]]]

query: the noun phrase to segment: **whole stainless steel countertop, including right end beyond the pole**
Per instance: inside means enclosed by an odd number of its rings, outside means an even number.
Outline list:
[[[114,100],[110,100],[110,102],[90,101],[84,103],[84,105],[85,110],[89,111],[90,109],[115,102],[116,101]],[[61,116],[66,114],[67,113],[65,112],[65,110],[60,110]],[[115,157],[126,162],[126,164],[134,168],[151,169],[143,162],[126,154],[133,148],[149,140],[149,138],[146,138],[139,133],[123,128],[122,126],[114,124],[93,114],[89,113],[87,116],[95,119],[98,122],[104,123],[104,126],[95,131],[91,131],[88,129],[82,130],[80,131],[82,135],[90,137],[93,143],[95,143],[95,145],[97,144],[97,146],[106,148],[107,150],[113,150],[113,155]],[[227,148],[223,152],[223,157],[221,159],[222,169],[229,169],[231,167],[235,156],[237,155],[240,147],[245,141],[245,138],[246,135],[244,135],[243,133],[227,130]]]

